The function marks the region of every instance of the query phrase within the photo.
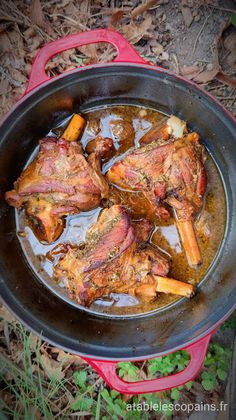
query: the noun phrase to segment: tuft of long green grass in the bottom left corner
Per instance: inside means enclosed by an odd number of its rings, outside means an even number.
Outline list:
[[[41,341],[34,344],[32,333],[21,324],[16,324],[15,329],[22,342],[21,367],[0,354],[0,382],[5,395],[12,395],[15,410],[4,400],[0,403],[0,410],[14,420],[37,416],[52,419],[51,400],[58,392],[65,392],[65,382],[45,380],[41,370]]]

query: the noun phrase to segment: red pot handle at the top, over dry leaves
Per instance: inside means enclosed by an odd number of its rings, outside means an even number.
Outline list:
[[[96,42],[108,42],[116,48],[117,57],[113,60],[115,62],[147,64],[119,32],[111,29],[94,29],[92,31],[79,32],[52,41],[39,50],[33,61],[26,93],[41,83],[50,80],[50,77],[45,73],[45,66],[51,57],[71,48],[94,44]]]

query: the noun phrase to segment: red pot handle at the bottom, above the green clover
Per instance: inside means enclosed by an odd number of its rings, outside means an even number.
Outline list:
[[[183,385],[197,376],[203,365],[208,344],[214,332],[215,330],[197,342],[190,344],[189,346],[182,349],[186,350],[190,354],[190,362],[184,370],[175,373],[174,375],[165,376],[158,379],[126,382],[117,376],[117,362],[93,360],[87,358],[83,359],[99,373],[99,375],[112,389],[115,389],[121,394],[145,394],[149,392],[164,391],[166,389]]]

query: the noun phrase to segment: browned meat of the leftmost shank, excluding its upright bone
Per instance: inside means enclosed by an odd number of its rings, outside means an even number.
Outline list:
[[[95,154],[88,162],[78,143],[48,137],[5,198],[16,208],[24,206],[39,239],[50,243],[62,233],[63,216],[93,209],[107,195]]]

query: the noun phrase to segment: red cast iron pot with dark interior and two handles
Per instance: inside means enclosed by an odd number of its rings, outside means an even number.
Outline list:
[[[87,66],[50,79],[50,57],[95,42],[117,50],[113,63]],[[139,394],[179,386],[201,369],[209,340],[235,308],[236,138],[233,117],[213,97],[168,70],[151,66],[117,32],[94,30],[43,47],[33,63],[24,97],[3,121],[0,136],[1,193],[12,188],[28,157],[58,117],[97,105],[139,104],[175,114],[196,129],[218,166],[227,221],[220,249],[196,297],[162,310],[111,316],[70,304],[43,284],[24,259],[14,209],[0,208],[0,290],[4,304],[50,343],[83,357],[121,393]],[[222,198],[223,199],[223,198]],[[185,349],[187,368],[175,375],[127,383],[116,374],[121,360],[143,360]]]

